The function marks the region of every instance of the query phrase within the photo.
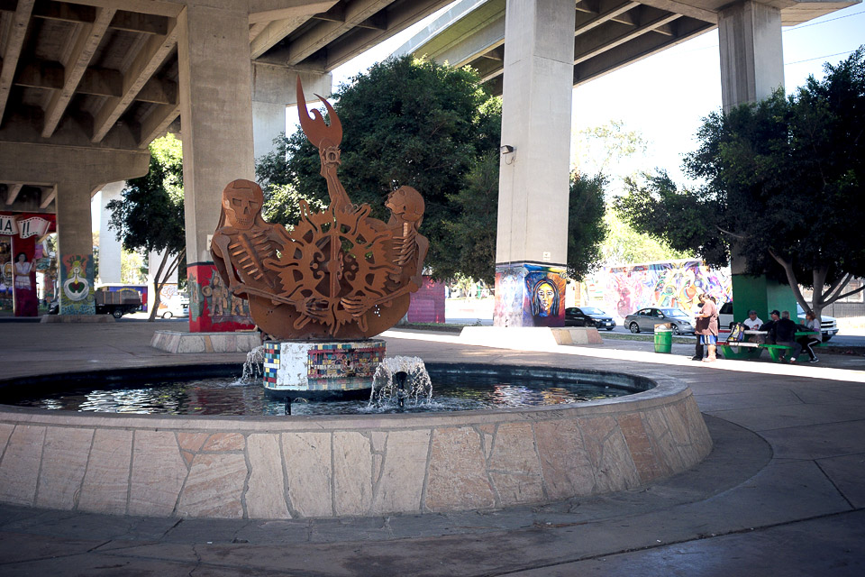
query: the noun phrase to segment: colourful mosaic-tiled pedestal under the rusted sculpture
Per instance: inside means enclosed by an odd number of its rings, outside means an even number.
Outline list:
[[[384,358],[381,339],[264,343],[264,389],[278,397],[369,390]]]

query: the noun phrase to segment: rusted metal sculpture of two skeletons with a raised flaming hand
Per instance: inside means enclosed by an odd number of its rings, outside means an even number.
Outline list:
[[[318,95],[316,95],[318,96]],[[331,204],[314,212],[300,201],[300,222],[288,232],[261,216],[264,195],[250,180],[223,190],[223,210],[211,250],[232,294],[248,298],[259,328],[278,339],[352,340],[387,330],[408,310],[420,288],[429,242],[418,233],[423,197],[411,187],[391,192],[387,223],[353,205],[337,176],[340,119],[330,103],[331,124],[306,112],[300,79],[300,124],[318,148]]]

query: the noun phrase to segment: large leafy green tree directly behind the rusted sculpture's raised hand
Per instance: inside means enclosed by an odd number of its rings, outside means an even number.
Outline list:
[[[387,220],[387,195],[403,185],[416,188],[426,203],[426,264],[442,278],[449,263],[460,260],[461,248],[445,225],[458,210],[451,197],[468,186],[479,157],[498,150],[499,99],[489,96],[471,69],[405,56],[352,78],[332,100],[343,130],[340,179],[352,202],[369,203],[373,216]],[[295,209],[274,202],[278,191],[287,200],[326,201],[319,169],[318,151],[299,130],[260,159],[256,173],[269,197],[268,213],[282,224],[296,224]]]

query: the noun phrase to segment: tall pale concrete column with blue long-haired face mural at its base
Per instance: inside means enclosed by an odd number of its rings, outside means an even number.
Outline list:
[[[506,5],[496,326],[564,325],[574,18],[572,0]]]

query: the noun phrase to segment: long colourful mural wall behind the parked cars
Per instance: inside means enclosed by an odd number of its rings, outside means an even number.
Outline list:
[[[719,307],[732,300],[730,270],[694,260],[606,267],[586,279],[580,304],[603,308],[621,322],[645,307],[676,307],[691,315],[700,293],[715,297]]]

